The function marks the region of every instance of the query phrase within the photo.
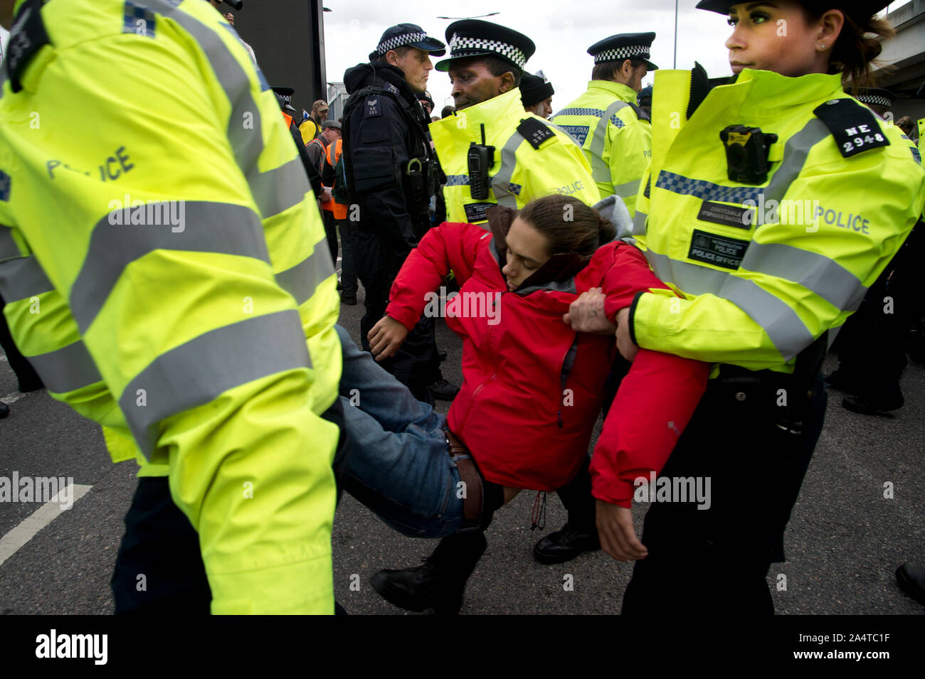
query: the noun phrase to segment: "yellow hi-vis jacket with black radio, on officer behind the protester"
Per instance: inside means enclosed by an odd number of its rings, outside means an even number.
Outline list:
[[[443,197],[448,222],[483,224],[486,209],[495,203],[522,208],[553,193],[573,196],[588,205],[598,202],[598,188],[581,149],[561,129],[524,112],[520,96],[514,88],[430,124],[434,149],[447,176]],[[538,132],[536,137],[527,139],[517,131],[525,120]],[[483,125],[485,143],[495,147],[494,165],[488,171],[488,197],[476,200],[469,191],[466,159],[469,144],[482,143]]]

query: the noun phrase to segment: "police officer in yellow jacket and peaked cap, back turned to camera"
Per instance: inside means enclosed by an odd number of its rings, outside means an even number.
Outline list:
[[[648,115],[636,105],[636,93],[648,71],[658,68],[648,60],[653,40],[653,32],[622,33],[588,47],[594,69],[587,91],[552,118],[581,144],[600,197],[616,194],[631,216],[652,148]]]

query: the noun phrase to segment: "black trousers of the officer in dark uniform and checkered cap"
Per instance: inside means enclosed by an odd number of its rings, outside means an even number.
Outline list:
[[[397,246],[380,234],[351,230],[356,275],[366,291],[366,312],[360,321],[360,342],[369,351],[367,334],[386,313],[388,292],[410,249]],[[419,401],[433,403],[427,387],[440,379],[440,361],[434,319],[422,317],[401,348],[380,365],[406,385]]]

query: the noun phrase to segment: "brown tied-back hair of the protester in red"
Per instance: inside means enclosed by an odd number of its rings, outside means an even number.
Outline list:
[[[616,227],[597,210],[569,196],[538,198],[527,203],[517,216],[549,239],[550,255],[575,252],[590,257],[617,235]]]

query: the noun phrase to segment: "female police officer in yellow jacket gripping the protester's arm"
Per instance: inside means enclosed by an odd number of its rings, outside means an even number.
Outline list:
[[[644,547],[604,490],[611,461],[595,455],[602,547],[637,560],[624,613],[773,612],[766,575],[822,429],[826,343],[925,195],[918,153],[842,91],[880,54],[865,34],[893,34],[873,17],[885,4],[702,0],[729,16],[733,79],[656,75],[635,235],[684,298],[637,295],[617,341],[625,358],[640,346],[716,364],[662,470],[711,479],[712,497],[709,509],[653,503]]]

